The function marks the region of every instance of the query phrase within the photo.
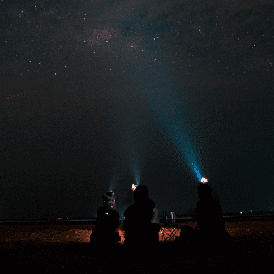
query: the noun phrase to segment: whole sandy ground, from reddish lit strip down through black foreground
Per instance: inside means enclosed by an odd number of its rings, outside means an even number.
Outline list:
[[[162,242],[154,250],[117,245],[104,254],[89,243],[90,225],[1,227],[0,251],[2,267],[27,273],[266,271],[274,255],[273,225],[273,221],[226,223],[233,242],[222,250]]]

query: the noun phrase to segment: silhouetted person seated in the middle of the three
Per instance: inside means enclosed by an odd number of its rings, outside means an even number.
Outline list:
[[[134,190],[134,204],[124,213],[125,246],[147,247],[159,242],[159,217],[146,186]]]

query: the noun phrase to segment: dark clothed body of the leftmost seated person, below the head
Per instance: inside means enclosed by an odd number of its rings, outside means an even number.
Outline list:
[[[101,206],[97,210],[95,228],[90,236],[90,242],[108,244],[120,241],[121,237],[115,231],[117,227],[119,227],[119,213]]]

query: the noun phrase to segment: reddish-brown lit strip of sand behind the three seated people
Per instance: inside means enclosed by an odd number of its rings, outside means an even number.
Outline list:
[[[188,221],[182,225],[189,225],[193,228],[197,227],[197,223]],[[0,227],[0,245],[7,242],[29,241],[29,242],[60,242],[60,243],[88,243],[90,234],[94,225],[32,225],[32,226],[1,226]],[[274,234],[274,221],[249,221],[249,222],[231,222],[225,223],[225,229],[230,236],[241,237],[242,239],[248,236],[258,237],[261,234],[271,237]],[[173,229],[174,230],[174,229]],[[123,225],[120,225],[118,232],[121,236],[121,244],[123,244]],[[169,238],[169,230],[166,229],[164,235],[160,232],[159,239],[162,237]],[[179,231],[175,232],[179,236]],[[175,237],[169,239],[175,240]]]

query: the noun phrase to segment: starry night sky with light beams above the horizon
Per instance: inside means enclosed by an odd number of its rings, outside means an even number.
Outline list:
[[[0,219],[274,208],[274,1],[0,2]]]

